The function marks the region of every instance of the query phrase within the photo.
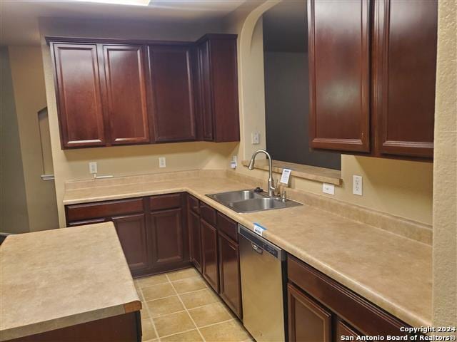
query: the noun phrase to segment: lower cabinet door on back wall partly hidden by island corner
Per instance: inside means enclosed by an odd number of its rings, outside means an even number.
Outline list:
[[[112,217],[122,249],[133,274],[149,267],[149,251],[146,239],[144,214]]]

